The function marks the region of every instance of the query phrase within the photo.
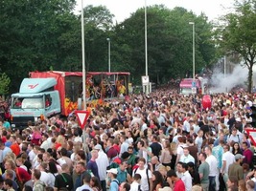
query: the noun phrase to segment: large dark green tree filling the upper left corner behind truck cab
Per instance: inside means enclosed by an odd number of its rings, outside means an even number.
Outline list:
[[[63,36],[74,27],[75,4],[75,0],[0,2],[0,68],[12,78],[12,91],[30,71],[50,66],[59,70],[74,53],[65,54],[61,48],[70,46]]]

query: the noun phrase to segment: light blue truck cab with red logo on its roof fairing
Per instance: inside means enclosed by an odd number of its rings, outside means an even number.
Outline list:
[[[58,91],[54,90],[57,80],[49,78],[24,78],[19,93],[12,95],[12,128],[23,129],[29,120],[33,123],[44,117],[60,113]]]

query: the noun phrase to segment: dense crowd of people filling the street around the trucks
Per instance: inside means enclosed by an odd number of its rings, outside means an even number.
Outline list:
[[[256,96],[157,90],[45,118],[21,132],[0,122],[0,190],[256,190],[252,128]],[[4,121],[4,123],[2,122]]]

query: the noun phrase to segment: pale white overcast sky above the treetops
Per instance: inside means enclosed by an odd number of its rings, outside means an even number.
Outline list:
[[[145,7],[145,0],[77,0],[75,12],[81,11],[81,1],[83,1],[83,7],[88,5],[105,6],[115,15],[114,21],[117,22],[124,21],[130,16],[130,13]],[[215,20],[230,11],[234,0],[146,0],[146,2],[147,6],[163,4],[169,9],[183,7],[197,15],[204,12],[209,20]]]

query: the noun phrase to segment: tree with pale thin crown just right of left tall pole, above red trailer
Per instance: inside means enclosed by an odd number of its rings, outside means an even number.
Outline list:
[[[105,6],[84,8],[86,71],[107,71],[107,41],[113,26],[113,14]]]

